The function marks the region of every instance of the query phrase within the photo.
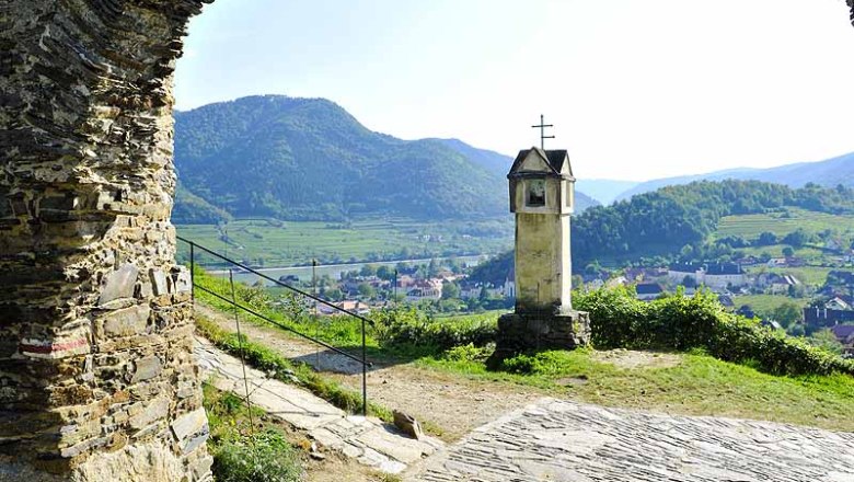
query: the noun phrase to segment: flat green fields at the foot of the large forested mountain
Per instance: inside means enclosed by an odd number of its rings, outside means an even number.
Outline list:
[[[182,225],[177,233],[253,266],[322,264],[493,254],[510,249],[510,219],[424,222],[406,219],[350,223],[238,220],[223,226]],[[198,254],[198,253],[197,253]],[[188,246],[178,243],[178,259]],[[210,256],[203,263],[214,266]]]

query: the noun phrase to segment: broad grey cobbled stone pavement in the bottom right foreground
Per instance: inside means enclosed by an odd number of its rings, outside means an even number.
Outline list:
[[[427,459],[409,480],[854,482],[854,434],[543,399]]]

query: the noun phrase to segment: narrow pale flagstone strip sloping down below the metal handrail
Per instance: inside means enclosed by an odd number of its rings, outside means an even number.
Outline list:
[[[198,336],[195,353],[203,378],[219,390],[245,398],[240,359]],[[322,447],[339,451],[382,472],[400,473],[443,446],[441,440],[432,437],[409,438],[374,417],[346,415],[325,400],[297,386],[268,378],[263,371],[249,366],[246,380],[250,401],[255,406],[304,431]]]

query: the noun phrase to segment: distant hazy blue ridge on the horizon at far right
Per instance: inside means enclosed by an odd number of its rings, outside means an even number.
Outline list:
[[[616,196],[616,200],[628,199],[636,194],[653,192],[670,185],[683,185],[694,181],[724,181],[728,179],[785,184],[794,188],[803,187],[808,183],[823,187],[833,187],[839,184],[852,187],[854,186],[854,152],[818,162],[798,162],[769,169],[729,169],[705,174],[651,180],[624,191]]]

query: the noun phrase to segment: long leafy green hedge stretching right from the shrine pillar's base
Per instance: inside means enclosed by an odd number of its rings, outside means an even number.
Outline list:
[[[574,306],[590,312],[598,348],[701,348],[725,362],[751,360],[777,375],[854,375],[854,363],[728,313],[708,292],[643,302],[626,288],[599,289],[577,294]]]

